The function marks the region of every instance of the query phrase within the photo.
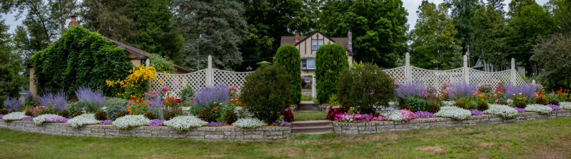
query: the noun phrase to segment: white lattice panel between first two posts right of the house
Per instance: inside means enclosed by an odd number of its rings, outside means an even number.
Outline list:
[[[423,68],[412,67],[413,80],[424,81],[427,86],[439,88],[444,83],[455,83],[462,80],[462,68],[456,68],[446,71],[427,70]]]

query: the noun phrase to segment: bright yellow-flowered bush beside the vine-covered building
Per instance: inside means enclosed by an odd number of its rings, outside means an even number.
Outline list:
[[[143,93],[148,91],[148,81],[157,79],[156,68],[154,66],[133,66],[129,73],[131,74],[123,80],[119,78],[116,81],[105,81],[108,88],[124,90],[121,93],[116,93],[116,96],[121,98],[141,97]]]

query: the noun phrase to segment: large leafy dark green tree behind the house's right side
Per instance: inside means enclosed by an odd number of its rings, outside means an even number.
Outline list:
[[[344,37],[353,32],[355,61],[393,68],[407,51],[408,13],[403,1],[327,0],[321,10],[318,29],[325,34]]]

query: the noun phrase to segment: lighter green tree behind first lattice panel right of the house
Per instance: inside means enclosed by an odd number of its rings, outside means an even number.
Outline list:
[[[448,7],[423,1],[419,9],[415,29],[410,33],[414,65],[428,69],[459,67],[453,58],[460,48],[454,37],[458,31],[448,15]]]

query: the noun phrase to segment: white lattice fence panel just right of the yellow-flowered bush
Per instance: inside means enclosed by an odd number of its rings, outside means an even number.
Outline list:
[[[206,85],[206,69],[186,74],[167,74],[157,72],[158,81],[151,81],[151,91],[161,91],[161,88],[168,86],[173,93],[178,96],[186,86],[196,89]]]

